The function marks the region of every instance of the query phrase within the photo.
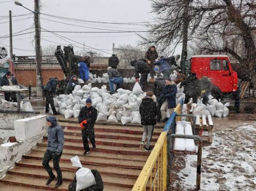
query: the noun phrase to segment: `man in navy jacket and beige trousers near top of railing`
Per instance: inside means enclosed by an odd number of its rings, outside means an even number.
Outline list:
[[[166,78],[165,86],[161,95],[157,99],[158,104],[162,104],[161,106],[161,116],[162,116],[162,123],[168,120],[166,115],[167,108],[169,110],[169,114],[171,115],[176,107],[176,93],[177,93],[177,86],[171,78]]]

